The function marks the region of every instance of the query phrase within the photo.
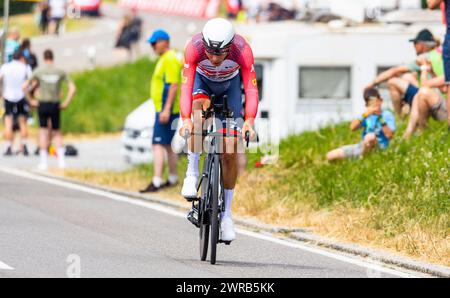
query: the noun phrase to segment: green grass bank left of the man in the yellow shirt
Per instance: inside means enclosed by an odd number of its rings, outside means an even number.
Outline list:
[[[126,116],[149,97],[154,62],[72,74],[77,95],[62,117],[63,132],[110,133],[122,129]]]

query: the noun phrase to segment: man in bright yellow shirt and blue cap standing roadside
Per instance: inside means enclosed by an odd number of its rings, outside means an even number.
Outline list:
[[[172,150],[176,121],[180,114],[181,62],[175,51],[170,49],[170,37],[164,30],[156,30],[148,39],[159,56],[151,80],[151,98],[155,104],[156,116],[153,131],[154,176],[150,185],[142,190],[157,192],[178,183],[178,155]],[[175,129],[172,129],[175,128]],[[168,158],[169,180],[163,182],[165,157]]]

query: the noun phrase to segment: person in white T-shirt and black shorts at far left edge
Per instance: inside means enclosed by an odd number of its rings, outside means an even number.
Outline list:
[[[14,53],[13,61],[4,64],[0,68],[0,80],[3,82],[3,100],[5,104],[5,139],[7,149],[5,156],[13,154],[13,125],[17,118],[20,127],[21,146],[19,153],[28,156],[27,149],[27,118],[29,105],[23,91],[24,83],[32,76],[31,67],[27,65],[26,59],[21,51]]]

